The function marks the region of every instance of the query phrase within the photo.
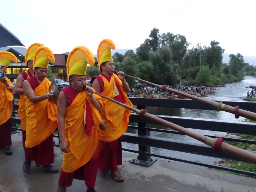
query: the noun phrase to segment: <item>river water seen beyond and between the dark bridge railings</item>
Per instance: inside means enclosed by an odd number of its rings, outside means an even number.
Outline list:
[[[251,92],[252,90],[251,88],[249,88],[250,85],[256,85],[256,78],[252,76],[246,76],[240,82],[226,84],[225,87],[216,87],[216,90],[212,90],[212,92],[208,94],[208,97],[204,97],[204,99],[220,100],[220,101],[243,101],[241,97],[246,96],[247,91]],[[238,119],[236,119],[234,114],[227,113],[224,111],[184,109],[184,108],[150,107],[149,113],[154,115],[165,115],[165,116],[218,119],[218,120],[225,120],[225,121],[232,121],[232,122],[241,121],[244,119],[243,117],[239,117]],[[130,125],[137,125],[137,124],[130,123]],[[159,128],[159,129],[170,129],[168,127],[164,127],[161,125],[152,125],[152,124],[150,125],[150,127]],[[191,130],[200,134],[207,134],[207,135],[215,135],[217,133],[215,131],[208,131],[208,130],[198,130],[198,129],[191,129]],[[138,134],[137,129],[128,128],[126,132]],[[223,134],[225,133],[223,132]],[[178,134],[162,133],[162,132],[150,132],[150,135],[154,137],[169,138],[174,140],[182,140],[182,141],[188,141],[191,143],[202,144],[202,142],[197,141],[193,138],[190,138],[186,135],[178,135]],[[138,145],[123,142],[123,148],[138,150]],[[199,155],[194,155],[189,153],[183,153],[183,152],[171,151],[171,150],[165,150],[165,149],[153,148],[153,147],[151,147],[151,153],[190,160],[190,161],[199,160],[202,163],[206,163],[206,164],[214,164],[213,163],[214,161],[220,160],[218,158],[199,156]]]

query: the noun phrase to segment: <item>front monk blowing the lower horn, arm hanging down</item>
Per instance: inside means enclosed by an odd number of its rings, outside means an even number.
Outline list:
[[[84,180],[87,192],[95,192],[99,167],[96,148],[103,104],[101,97],[93,94],[94,89],[85,88],[87,62],[93,65],[94,56],[86,47],[78,46],[69,53],[70,86],[62,89],[58,98],[60,149],[64,152],[58,192],[66,192],[73,178]]]

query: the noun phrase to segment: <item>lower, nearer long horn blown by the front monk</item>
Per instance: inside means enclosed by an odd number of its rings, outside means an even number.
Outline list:
[[[84,87],[85,88],[85,87]],[[143,116],[146,117],[146,118],[149,118],[149,119],[152,119],[156,122],[158,122],[159,124],[162,124],[162,125],[165,125],[167,127],[170,127],[178,132],[181,132],[183,133],[184,135],[188,135],[189,137],[192,137],[196,140],[199,140],[201,142],[203,142],[204,144],[206,145],[209,145],[211,146],[214,151],[218,152],[220,151],[220,149],[224,150],[225,152],[229,153],[229,154],[232,154],[234,156],[237,156],[237,157],[240,157],[246,161],[249,161],[249,162],[252,162],[254,164],[256,164],[256,154],[254,153],[251,153],[249,151],[246,151],[244,149],[240,149],[240,148],[237,148],[235,146],[232,146],[232,145],[229,145],[228,143],[224,143],[222,142],[223,139],[220,137],[220,138],[215,138],[215,139],[212,139],[210,137],[206,137],[204,135],[201,135],[201,134],[198,134],[198,133],[195,133],[195,132],[192,132],[184,127],[181,127],[179,125],[176,125],[176,124],[173,124],[171,122],[168,122],[168,121],[165,121],[164,119],[161,119],[159,117],[156,117],[154,115],[150,115],[149,113],[146,113],[146,110],[142,109],[142,110],[139,110],[139,109],[135,109],[133,107],[130,107],[128,105],[125,105],[124,103],[121,103],[119,101],[116,101],[114,99],[110,99],[104,95],[101,95],[100,93],[97,93],[97,92],[93,92],[94,94],[97,94],[107,100],[110,100],[118,105],[121,105],[127,109],[130,109],[132,110],[133,112],[137,113],[138,115],[140,115],[140,117],[142,118]]]

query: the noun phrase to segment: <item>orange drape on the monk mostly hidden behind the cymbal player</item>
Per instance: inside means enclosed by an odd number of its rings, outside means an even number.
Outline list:
[[[28,76],[27,79],[30,78],[28,75],[28,71],[26,71],[26,73]],[[20,99],[18,100],[18,104],[19,104],[18,114],[20,117],[20,124],[21,124],[22,131],[26,131],[26,99],[27,99],[27,96],[25,94],[21,94]]]

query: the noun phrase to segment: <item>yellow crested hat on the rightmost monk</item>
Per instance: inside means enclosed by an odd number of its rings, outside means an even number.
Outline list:
[[[103,39],[97,50],[97,59],[99,63],[99,68],[100,65],[106,61],[113,61],[112,54],[111,54],[111,49],[116,49],[116,45],[114,42],[110,39]]]

